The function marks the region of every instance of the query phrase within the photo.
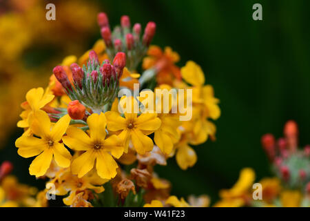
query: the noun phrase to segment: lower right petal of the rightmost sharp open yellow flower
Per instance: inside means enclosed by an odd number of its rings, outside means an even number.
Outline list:
[[[154,143],[151,138],[144,135],[141,131],[134,129],[130,132],[132,144],[138,154],[145,154],[147,151],[152,151]]]

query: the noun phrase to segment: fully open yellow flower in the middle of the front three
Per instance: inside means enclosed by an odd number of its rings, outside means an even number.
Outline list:
[[[96,160],[98,175],[103,179],[111,179],[115,177],[118,168],[113,157],[119,158],[124,152],[122,140],[116,135],[110,135],[105,139],[107,119],[104,113],[90,115],[87,118],[87,124],[90,128],[90,136],[80,128],[70,127],[67,136],[63,137],[65,145],[76,151],[85,151],[73,160],[72,173],[77,174],[78,177],[83,177],[94,168]]]

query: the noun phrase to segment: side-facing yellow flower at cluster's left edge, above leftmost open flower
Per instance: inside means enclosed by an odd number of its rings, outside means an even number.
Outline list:
[[[28,116],[30,113],[38,111],[54,99],[54,95],[50,94],[49,88],[47,88],[45,93],[43,88],[32,88],[25,97],[27,102],[21,104],[21,107],[25,109],[25,111],[21,113],[22,119],[17,122],[17,126],[21,128],[29,127]]]

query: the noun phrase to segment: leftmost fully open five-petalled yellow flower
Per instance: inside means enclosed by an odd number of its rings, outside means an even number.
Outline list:
[[[29,167],[30,175],[42,176],[48,171],[53,159],[56,164],[61,167],[70,166],[71,155],[70,152],[59,143],[63,134],[67,130],[71,118],[65,115],[54,124],[52,130],[50,117],[44,111],[36,111],[30,115],[32,125],[31,130],[34,136],[21,136],[15,142],[19,150],[17,153],[22,157],[37,157],[32,161]]]

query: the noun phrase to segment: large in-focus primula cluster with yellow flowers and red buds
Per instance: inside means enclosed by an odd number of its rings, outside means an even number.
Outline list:
[[[171,183],[154,171],[174,155],[181,169],[194,166],[197,155],[190,144],[215,139],[211,120],[220,117],[219,101],[213,88],[204,86],[203,70],[194,61],[178,68],[176,52],[149,47],[156,29],[152,21],[141,38],[141,25],[131,28],[127,16],[112,32],[105,13],[97,18],[103,40],[79,59],[66,57],[45,90],[26,94],[17,153],[35,157],[30,174],[47,179],[45,192],[66,196],[68,206],[208,206],[206,195],[191,196],[189,203],[171,196]],[[142,61],[145,71],[139,75]],[[118,97],[135,84],[148,90]],[[169,95],[166,101],[157,89],[193,93]],[[173,111],[180,102],[176,97],[185,99],[186,112]],[[192,117],[180,120],[189,108]]]

